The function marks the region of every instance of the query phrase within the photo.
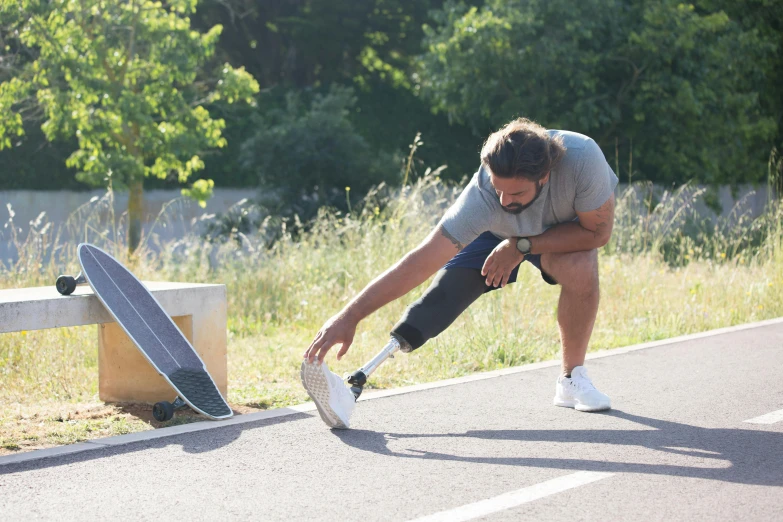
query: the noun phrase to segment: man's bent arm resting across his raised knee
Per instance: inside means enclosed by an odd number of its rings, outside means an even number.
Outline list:
[[[593,250],[609,242],[614,226],[614,194],[597,209],[576,214],[578,223],[560,223],[531,237],[531,254]]]

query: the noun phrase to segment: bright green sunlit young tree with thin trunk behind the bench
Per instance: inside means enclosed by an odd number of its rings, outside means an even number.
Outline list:
[[[0,149],[41,111],[49,140],[76,137],[67,160],[77,178],[130,190],[128,245],[141,237],[144,178],[185,183],[204,150],[223,147],[225,122],[205,105],[253,103],[258,84],[244,68],[213,70],[222,27],[204,34],[188,15],[197,0],[0,0],[4,63]],[[183,191],[203,201],[212,183]]]

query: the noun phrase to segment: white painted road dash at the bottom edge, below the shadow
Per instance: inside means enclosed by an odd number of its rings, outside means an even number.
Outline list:
[[[584,486],[597,480],[611,477],[613,473],[601,473],[597,471],[579,471],[571,475],[565,475],[556,479],[547,480],[534,486],[528,486],[517,491],[504,493],[494,498],[467,504],[448,511],[441,511],[434,515],[417,518],[412,522],[461,522],[483,517],[498,511],[504,511],[513,507],[532,502],[539,498],[554,495],[567,489]]]

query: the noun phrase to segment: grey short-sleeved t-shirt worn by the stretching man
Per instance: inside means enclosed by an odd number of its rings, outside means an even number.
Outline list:
[[[576,132],[548,132],[563,137],[566,153],[535,203],[519,214],[503,210],[482,166],[440,221],[451,236],[463,245],[484,232],[500,239],[537,236],[553,225],[575,220],[577,212],[606,203],[618,180],[598,144]]]

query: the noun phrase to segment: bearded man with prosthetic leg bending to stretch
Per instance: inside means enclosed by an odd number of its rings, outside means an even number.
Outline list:
[[[488,291],[516,280],[531,263],[560,285],[557,321],[562,373],[554,404],[580,411],[610,408],[583,366],[598,312],[598,251],[612,234],[617,176],[587,136],[549,130],[521,118],[493,133],[481,168],[429,236],[326,321],[304,354],[302,382],[323,420],[347,428],[354,396],[384,360],[410,352],[446,329]],[[427,292],[391,331],[389,344],[348,382],[323,363],[353,342],[358,323],[437,272]]]

